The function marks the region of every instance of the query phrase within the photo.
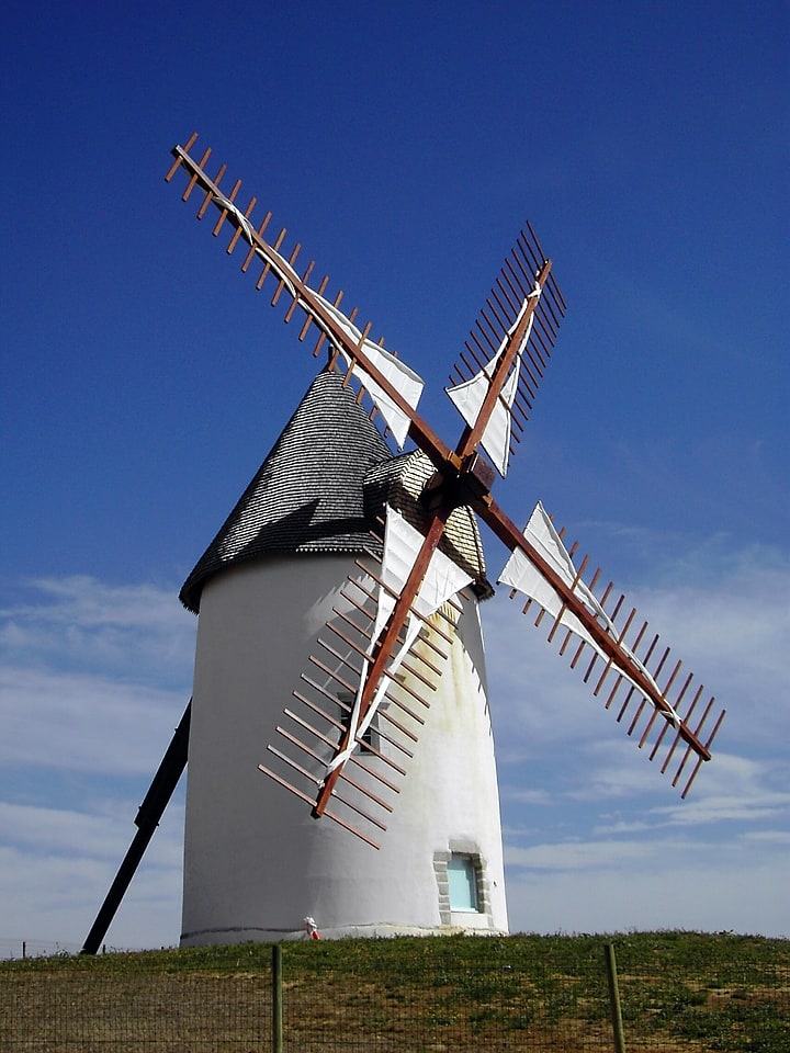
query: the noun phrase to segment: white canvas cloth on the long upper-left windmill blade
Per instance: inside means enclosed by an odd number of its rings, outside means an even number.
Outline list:
[[[266,260],[269,263],[272,272],[280,279],[287,288],[291,296],[298,303],[298,305],[311,316],[314,322],[321,329],[324,333],[329,338],[334,344],[332,333],[327,327],[324,319],[316,314],[312,305],[308,304],[298,293],[298,285],[301,284],[301,278],[289,263],[289,261],[280,256],[280,253],[273,249],[270,245],[260,245],[257,239],[257,231],[252,227],[252,224],[249,219],[240,212],[236,205],[225,197],[223,194],[215,194],[214,201],[227,212],[232,213],[236,223],[241,228],[247,241],[256,250],[256,253]],[[425,382],[422,378],[415,373],[414,370],[410,370],[394,354],[391,354],[388,351],[385,351],[383,348],[379,347],[377,343],[373,343],[371,340],[363,340],[362,332],[350,321],[349,318],[343,315],[343,313],[331,304],[328,299],[325,299],[318,293],[313,291],[313,295],[321,305],[327,315],[329,315],[338,326],[339,329],[348,337],[348,339],[357,344],[357,347],[362,351],[369,362],[375,366],[375,369],[392,384],[394,388],[400,394],[404,401],[407,403],[411,409],[417,409],[417,404],[419,403],[420,395],[422,394],[422,388]],[[342,349],[338,349],[346,360],[347,365],[352,365],[350,355]],[[376,384],[370,374],[368,374],[361,365],[353,363],[351,369],[352,374],[360,381],[360,383],[366,388],[371,398],[373,399],[375,406],[381,412],[382,417],[387,423],[387,427],[393,433],[395,441],[397,442],[398,449],[403,448],[403,444],[406,441],[406,435],[408,434],[408,428],[410,418],[409,416],[397,406],[392,398]]]

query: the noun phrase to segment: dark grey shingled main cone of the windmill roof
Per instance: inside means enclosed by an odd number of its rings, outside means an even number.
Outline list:
[[[371,545],[364,478],[392,456],[342,376],[319,373],[187,578],[181,602],[198,613],[206,581],[250,559],[362,552]]]

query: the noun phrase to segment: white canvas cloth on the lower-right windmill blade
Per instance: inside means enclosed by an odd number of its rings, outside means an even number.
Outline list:
[[[620,641],[614,623],[603,610],[595,593],[591,589],[587,588],[580,578],[577,579],[574,562],[540,501],[530,517],[530,521],[524,530],[524,536],[534,548],[537,548],[552,569],[565,581],[568,588],[573,589],[575,596],[584,603],[590,614],[597,619],[601,627],[606,630],[613,641],[619,643],[619,649],[663,698],[661,688],[647,671],[646,667],[636,655]],[[605,661],[611,661],[612,665],[617,667],[618,672],[628,680],[629,683],[633,684],[641,694],[644,694],[640,686],[629,673],[625,665],[616,658],[610,658],[592,636],[590,636],[573,611],[563,607],[562,597],[552,588],[551,584],[546,581],[529,556],[520,548],[514,548],[503,573],[499,575],[498,581],[503,585],[509,585],[514,589],[518,589],[519,592],[522,592],[539,603],[555,620],[560,619],[561,625],[565,625],[572,633],[584,639],[586,644],[589,644]],[[665,716],[675,727],[679,727],[680,717],[668,702],[666,704],[667,711]]]

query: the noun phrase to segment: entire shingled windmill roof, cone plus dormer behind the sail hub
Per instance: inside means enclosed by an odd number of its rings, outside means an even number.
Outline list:
[[[200,610],[214,575],[252,559],[283,554],[381,551],[371,530],[390,503],[418,529],[419,494],[433,472],[425,454],[394,456],[342,374],[313,381],[251,483],[184,581],[179,597]],[[458,508],[440,547],[490,595],[474,513]]]

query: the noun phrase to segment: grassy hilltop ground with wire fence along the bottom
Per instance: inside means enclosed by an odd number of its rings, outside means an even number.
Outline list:
[[[789,1018],[790,943],[747,938],[343,940],[0,963],[0,1053],[787,1053]]]

